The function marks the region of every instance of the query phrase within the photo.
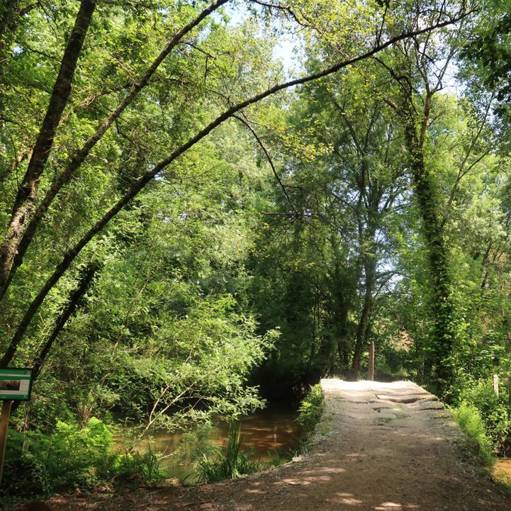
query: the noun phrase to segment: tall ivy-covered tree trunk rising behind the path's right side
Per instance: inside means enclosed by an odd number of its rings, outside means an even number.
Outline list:
[[[440,11],[444,7],[440,6]],[[453,385],[451,354],[458,336],[449,265],[449,249],[442,220],[442,198],[435,182],[432,164],[427,162],[427,130],[432,125],[433,99],[443,87],[449,63],[454,55],[453,34],[449,30],[436,40],[426,36],[410,38],[396,45],[391,60],[375,57],[388,72],[394,91],[382,91],[386,101],[401,119],[408,165],[422,218],[422,233],[429,264],[432,295],[429,302],[433,325],[429,337],[425,371],[434,371],[440,393]],[[437,64],[442,62],[442,64]],[[429,377],[430,378],[430,377]]]

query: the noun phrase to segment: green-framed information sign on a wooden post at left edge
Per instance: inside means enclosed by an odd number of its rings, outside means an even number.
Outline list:
[[[7,429],[13,401],[28,401],[32,391],[32,369],[0,369],[0,484],[4,471]]]

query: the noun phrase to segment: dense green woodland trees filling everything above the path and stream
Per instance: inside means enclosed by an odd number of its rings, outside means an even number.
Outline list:
[[[492,0],[0,6],[0,367],[36,376],[13,429],[62,447],[92,417],[208,425],[363,377],[374,342],[376,378],[475,407],[507,451],[509,19]]]

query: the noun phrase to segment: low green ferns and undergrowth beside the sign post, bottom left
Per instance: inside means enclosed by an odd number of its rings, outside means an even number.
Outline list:
[[[112,428],[96,417],[82,429],[57,422],[53,434],[10,432],[0,494],[33,497],[89,489],[117,475],[137,475],[145,483],[161,478],[155,453],[118,454],[112,445]]]

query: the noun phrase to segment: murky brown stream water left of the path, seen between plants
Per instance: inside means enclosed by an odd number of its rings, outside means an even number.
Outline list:
[[[273,405],[259,410],[252,415],[241,417],[242,449],[249,451],[249,457],[268,461],[271,456],[290,456],[300,447],[302,428],[295,420],[296,410]],[[223,446],[229,435],[228,422],[218,422],[211,430],[209,437],[217,445]],[[151,437],[142,440],[138,449],[144,451],[150,447],[152,451],[161,453],[159,466],[167,477],[179,481],[193,482],[193,465],[179,464],[174,451],[184,439],[182,432],[152,432]],[[118,446],[128,445],[128,437],[120,437]],[[159,456],[160,457],[160,456]]]

